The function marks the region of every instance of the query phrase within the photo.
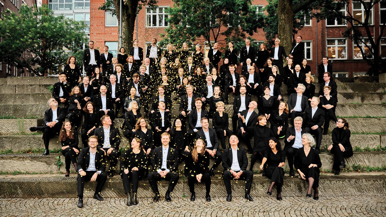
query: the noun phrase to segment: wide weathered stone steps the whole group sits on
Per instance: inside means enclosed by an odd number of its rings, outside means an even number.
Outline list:
[[[57,82],[58,78],[46,78],[46,77],[8,77],[0,79],[0,172],[4,173],[53,173],[52,176],[28,178],[28,175],[11,176],[11,178],[0,178],[0,188],[10,188],[10,186],[18,186],[15,189],[7,190],[7,192],[0,193],[0,197],[35,197],[33,193],[23,193],[23,188],[29,188],[34,183],[41,183],[39,189],[42,193],[36,197],[75,197],[76,196],[76,176],[73,174],[74,170],[71,168],[71,176],[69,179],[62,178],[62,174],[65,171],[64,165],[58,168],[56,162],[57,157],[64,163],[64,157],[61,154],[50,154],[49,156],[43,156],[42,151],[39,150],[44,147],[42,136],[29,131],[29,127],[42,125],[44,111],[48,108],[47,100],[51,97],[51,92],[47,89],[47,86]],[[318,85],[316,92],[318,92]],[[336,114],[340,117],[347,117],[350,123],[350,129],[352,132],[351,143],[354,149],[375,149],[376,151],[361,151],[355,152],[354,156],[347,159],[346,164],[348,167],[352,166],[368,166],[368,167],[381,167],[386,163],[386,152],[379,151],[386,147],[386,87],[385,83],[342,83],[338,82],[338,99],[339,104],[336,109]],[[285,100],[288,98],[286,94],[286,86],[282,86],[282,93]],[[233,95],[230,94],[230,103],[233,102]],[[253,98],[252,98],[253,100]],[[173,104],[171,112],[173,119],[179,114],[179,105]],[[226,105],[226,112],[231,117],[233,114],[232,105]],[[230,128],[232,127],[232,120],[229,119]],[[123,119],[115,119],[115,125],[120,126],[123,123]],[[210,120],[210,127],[212,127],[212,120]],[[330,122],[330,131],[335,127],[335,123]],[[329,131],[329,132],[330,132]],[[80,142],[81,143],[81,142]],[[284,146],[283,139],[281,144]],[[322,159],[322,171],[331,170],[333,156],[329,152],[323,152],[326,150],[331,142],[331,134],[323,136],[322,141],[322,153],[320,157]],[[120,147],[127,148],[129,141],[125,137],[122,137]],[[240,144],[244,146],[244,144]],[[82,144],[80,144],[80,147]],[[54,137],[50,141],[50,149],[60,149],[61,145],[58,137]],[[12,149],[12,151],[11,151]],[[384,149],[383,149],[384,150]],[[250,158],[250,156],[249,156]],[[259,163],[256,163],[254,170],[259,170]],[[180,165],[180,169],[183,166]],[[213,178],[214,188],[223,188],[220,173],[222,166],[219,166],[218,172],[215,178]],[[345,173],[341,173],[344,176]],[[361,175],[366,173],[361,173]],[[363,178],[359,175],[359,183]],[[0,175],[2,177],[2,175]],[[7,175],[9,177],[9,175]],[[23,178],[24,177],[24,178]],[[287,178],[289,183],[299,182],[299,185],[303,185],[303,182],[294,178]],[[361,178],[362,177],[362,178]],[[254,188],[259,188],[259,185],[267,181],[260,176],[255,177]],[[345,181],[338,177],[321,176],[321,182],[328,181],[337,183],[337,186],[343,185],[351,178],[345,177]],[[380,177],[385,180],[385,177]],[[219,180],[218,180],[219,179]],[[377,178],[374,178],[375,180]],[[368,179],[366,179],[368,180]],[[60,195],[58,190],[47,188],[46,186],[52,185],[52,183],[60,182],[61,185],[66,186],[64,196]],[[183,192],[188,192],[187,180],[180,180],[181,188],[176,186],[176,195],[182,197]],[[218,182],[215,184],[215,182]],[[109,182],[107,182],[109,183]],[[110,179],[109,190],[105,197],[117,197],[123,196],[122,184],[120,184],[120,177],[116,175]],[[386,181],[381,182],[379,185],[385,185]],[[15,185],[17,184],[17,185]],[[141,188],[145,190],[141,197],[152,197],[151,190],[147,181],[141,183]],[[166,184],[166,182],[164,183]],[[243,185],[241,182],[240,185]],[[110,186],[111,185],[111,186]],[[293,184],[292,184],[293,185]],[[323,185],[323,184],[321,184]],[[44,187],[43,187],[44,186]],[[87,185],[86,185],[87,186]],[[89,188],[93,188],[93,185],[88,185]],[[202,186],[203,187],[203,186]],[[288,186],[289,187],[289,186]],[[38,187],[36,187],[38,189]],[[107,189],[106,188],[106,189]],[[111,190],[111,189],[114,190]],[[183,190],[185,188],[185,191]],[[161,189],[161,188],[160,188]],[[265,189],[265,187],[264,187]],[[297,189],[297,188],[296,188]],[[223,190],[223,189],[222,189]],[[74,193],[75,191],[75,193]],[[22,192],[22,193],[20,193]],[[114,193],[115,192],[115,193]],[[118,193],[117,193],[118,192]],[[147,193],[146,193],[147,192]],[[221,190],[219,192],[222,192]],[[142,193],[141,193],[142,194]],[[181,194],[181,195],[180,195]],[[70,196],[71,195],[71,196]],[[178,197],[179,197],[178,196]],[[285,196],[285,195],[284,195]],[[91,196],[90,196],[91,197]]]

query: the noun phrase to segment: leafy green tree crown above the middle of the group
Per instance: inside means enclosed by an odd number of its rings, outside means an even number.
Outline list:
[[[163,43],[180,47],[186,41],[220,42],[224,38],[253,35],[264,22],[251,0],[174,0],[168,8],[169,27]],[[162,44],[162,43],[161,43]],[[212,46],[212,44],[208,44]]]

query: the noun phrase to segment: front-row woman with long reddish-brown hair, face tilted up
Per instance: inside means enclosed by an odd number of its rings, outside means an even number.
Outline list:
[[[191,151],[189,159],[189,176],[188,185],[190,193],[190,201],[196,200],[196,193],[194,191],[195,182],[205,182],[205,199],[210,202],[210,185],[212,181],[209,175],[209,153],[205,151],[205,142],[202,139],[197,139],[196,144]]]

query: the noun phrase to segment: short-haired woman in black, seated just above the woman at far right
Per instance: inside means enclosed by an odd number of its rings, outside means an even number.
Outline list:
[[[335,108],[337,107],[337,99],[330,96],[331,87],[324,86],[323,93],[325,96],[319,97],[321,107],[325,111],[324,115],[324,125],[323,125],[323,135],[327,135],[328,127],[330,127],[330,120],[333,120],[335,123],[338,121],[337,116],[335,115]]]

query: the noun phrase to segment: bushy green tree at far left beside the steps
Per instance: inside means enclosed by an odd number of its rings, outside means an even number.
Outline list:
[[[65,51],[76,53],[82,49],[87,41],[86,27],[84,22],[54,16],[47,5],[22,5],[18,14],[10,12],[0,22],[0,56],[12,66],[44,75],[48,69],[63,66],[69,56]],[[25,52],[28,55],[23,55]]]

